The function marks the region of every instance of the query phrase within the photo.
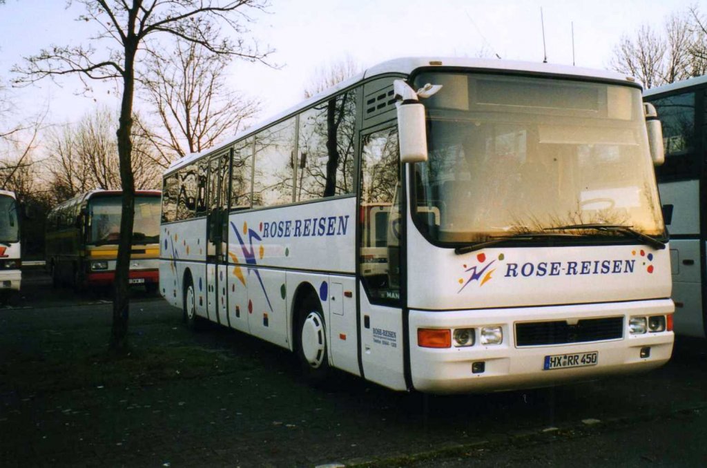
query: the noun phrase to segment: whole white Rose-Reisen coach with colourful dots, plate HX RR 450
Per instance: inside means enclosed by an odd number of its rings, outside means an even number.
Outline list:
[[[315,380],[486,392],[656,368],[659,129],[607,71],[385,62],[168,168],[160,292]]]

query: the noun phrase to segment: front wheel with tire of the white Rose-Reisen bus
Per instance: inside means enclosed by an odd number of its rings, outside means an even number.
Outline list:
[[[316,297],[304,300],[298,323],[297,355],[303,374],[312,384],[320,385],[329,375],[329,349],[322,306]]]

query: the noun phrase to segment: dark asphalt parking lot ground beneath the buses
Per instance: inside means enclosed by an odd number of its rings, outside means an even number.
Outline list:
[[[105,357],[110,300],[25,274],[0,309],[0,465],[703,466],[707,351],[678,339],[651,373],[435,397],[344,373],[323,388],[288,351],[136,289],[132,356]]]

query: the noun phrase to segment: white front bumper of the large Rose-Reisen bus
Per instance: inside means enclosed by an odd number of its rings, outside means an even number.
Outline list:
[[[674,312],[670,299],[626,303],[561,305],[538,308],[509,308],[429,312],[410,310],[409,343],[411,377],[416,390],[431,393],[489,392],[516,388],[544,387],[559,382],[591,380],[605,375],[650,370],[666,363],[672,355],[673,332],[629,334],[629,317],[668,315]],[[621,339],[544,346],[515,346],[515,323],[543,320],[585,319],[624,316]],[[417,345],[419,328],[503,327],[503,342],[466,348],[431,349]],[[641,358],[641,349],[650,356]],[[577,368],[543,370],[545,356],[598,352],[598,362]],[[473,363],[484,362],[484,372],[472,373]]]

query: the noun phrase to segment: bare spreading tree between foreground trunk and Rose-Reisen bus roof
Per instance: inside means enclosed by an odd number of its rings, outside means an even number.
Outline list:
[[[164,55],[152,52],[141,82],[160,123],[160,131],[144,134],[166,167],[175,157],[204,151],[222,136],[237,133],[257,114],[259,102],[228,87],[228,56],[183,40]]]

